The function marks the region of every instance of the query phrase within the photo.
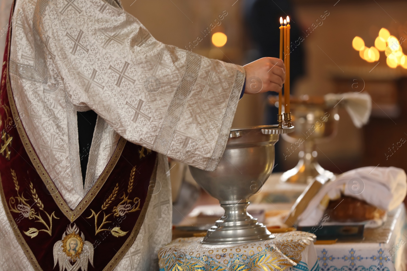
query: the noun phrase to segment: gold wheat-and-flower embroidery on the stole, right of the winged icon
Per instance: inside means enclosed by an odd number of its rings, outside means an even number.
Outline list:
[[[92,214],[90,215],[90,217],[87,217],[87,219],[94,217],[95,235],[98,234],[99,232],[103,232],[103,231],[109,231],[115,237],[125,236],[127,234],[127,232],[124,232],[123,230],[121,230],[120,227],[106,229],[106,228],[103,228],[103,226],[107,223],[112,222],[112,221],[107,220],[111,215],[114,215],[114,217],[123,217],[125,214],[127,214],[129,212],[136,212],[136,211],[140,210],[140,199],[138,197],[135,197],[134,199],[129,199],[130,193],[131,193],[131,191],[133,191],[134,177],[136,176],[136,171],[137,171],[136,167],[133,167],[131,169],[129,184],[127,187],[127,195],[126,195],[126,192],[123,192],[123,196],[120,197],[120,199],[122,199],[122,201],[113,207],[111,213],[108,213],[106,215],[106,213],[104,211],[107,210],[107,208],[116,199],[118,190],[119,190],[118,183],[114,187],[114,189],[113,189],[112,193],[109,195],[109,197],[107,197],[107,199],[105,200],[105,202],[103,203],[103,205],[101,207],[101,210],[98,213],[96,213],[94,210],[90,209]],[[99,215],[101,214],[101,212],[103,212],[103,220],[102,220],[102,223],[100,225],[98,225],[98,218],[99,218]]]

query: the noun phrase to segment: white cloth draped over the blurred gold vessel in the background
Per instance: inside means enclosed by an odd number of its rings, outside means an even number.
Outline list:
[[[372,99],[367,93],[328,93],[325,95],[327,104],[336,105],[339,102],[346,108],[354,126],[361,128],[363,124],[368,123],[370,113],[372,112]]]

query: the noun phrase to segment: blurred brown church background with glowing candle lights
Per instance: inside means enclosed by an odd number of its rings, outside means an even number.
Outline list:
[[[319,164],[335,174],[363,166],[407,170],[407,146],[394,148],[407,139],[406,1],[130,0],[123,5],[159,41],[238,65],[278,57],[279,18],[289,15],[291,95],[368,93],[372,100],[362,128],[338,106],[336,135],[317,145]],[[233,127],[276,124],[269,94],[244,95]],[[277,144],[274,173],[298,163],[298,152],[284,159],[291,143],[280,138]],[[175,223],[193,206],[219,204],[185,166],[170,166],[173,181],[181,180],[173,184]],[[186,201],[179,202],[179,195]]]

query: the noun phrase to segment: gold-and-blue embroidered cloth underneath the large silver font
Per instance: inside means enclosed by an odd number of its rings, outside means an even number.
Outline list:
[[[308,232],[274,234],[276,238],[253,243],[203,245],[202,237],[178,238],[160,249],[160,271],[319,271]]]

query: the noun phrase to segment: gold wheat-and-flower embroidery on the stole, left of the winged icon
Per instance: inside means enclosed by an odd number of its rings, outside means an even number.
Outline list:
[[[50,236],[52,236],[52,219],[59,219],[58,217],[55,216],[55,212],[52,212],[51,215],[48,214],[44,210],[44,204],[42,203],[41,199],[39,198],[37,191],[35,191],[35,188],[33,187],[33,183],[30,182],[30,193],[31,197],[34,201],[33,205],[29,205],[27,203],[28,199],[26,199],[23,195],[24,192],[19,193],[20,186],[18,185],[18,180],[17,180],[17,175],[13,169],[11,170],[11,176],[13,177],[13,182],[15,186],[15,190],[17,191],[17,197],[10,197],[9,199],[9,205],[10,205],[10,211],[15,212],[15,213],[21,213],[24,218],[28,219],[34,219],[34,222],[39,222],[42,223],[45,226],[45,229],[40,229],[38,230],[37,228],[28,228],[28,231],[24,232],[27,236],[30,236],[31,238],[34,238],[35,236],[38,235],[39,232],[46,232]],[[32,206],[37,206],[39,209],[37,212],[35,211],[34,208],[31,208]],[[40,211],[42,211],[47,217],[49,221],[49,225],[44,221],[44,219],[41,217]]]

